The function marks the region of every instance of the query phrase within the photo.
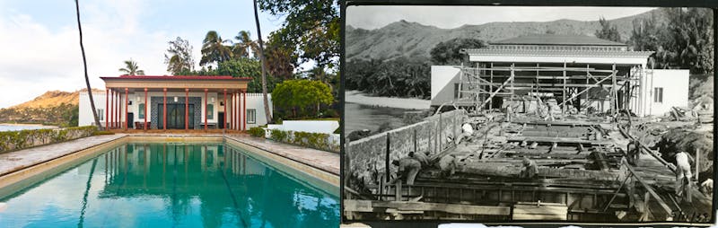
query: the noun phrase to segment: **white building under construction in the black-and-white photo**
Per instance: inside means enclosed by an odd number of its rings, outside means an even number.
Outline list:
[[[464,66],[432,66],[432,106],[530,112],[538,101],[556,111],[636,116],[687,108],[688,70],[649,69],[652,51],[579,35],[537,34],[463,49]]]

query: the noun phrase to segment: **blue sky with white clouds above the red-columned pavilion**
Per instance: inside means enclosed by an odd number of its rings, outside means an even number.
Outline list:
[[[47,91],[85,88],[73,0],[0,0],[0,108]],[[196,67],[206,32],[257,39],[249,0],[81,0],[83,43],[92,88],[101,76],[118,76],[132,58],[145,75],[168,75],[164,53],[178,36],[193,46]],[[259,13],[267,38],[284,22]]]

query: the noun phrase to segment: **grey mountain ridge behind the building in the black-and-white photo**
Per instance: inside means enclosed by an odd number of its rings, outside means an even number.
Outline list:
[[[659,22],[664,16],[659,10],[652,10],[633,16],[609,20],[616,25],[623,40],[630,38],[633,21],[650,18],[652,14]],[[486,41],[509,39],[531,33],[581,34],[593,36],[600,29],[596,21],[582,22],[558,20],[553,22],[490,22],[480,25],[463,25],[454,29],[441,29],[417,22],[399,21],[380,29],[363,30],[346,26],[346,58],[392,59],[408,57],[415,60],[429,59],[429,52],[439,42],[455,38],[475,38]]]

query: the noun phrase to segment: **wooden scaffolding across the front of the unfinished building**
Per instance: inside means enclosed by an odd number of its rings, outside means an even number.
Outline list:
[[[578,111],[594,107],[595,112],[615,116],[620,110],[635,112],[639,106],[632,106],[632,102],[642,101],[641,93],[636,91],[641,66],[519,65],[460,66],[454,104],[473,110],[509,108],[512,112],[530,112],[543,105],[537,101],[553,100],[562,114],[571,107]]]

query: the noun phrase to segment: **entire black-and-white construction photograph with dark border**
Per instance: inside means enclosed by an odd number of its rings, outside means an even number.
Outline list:
[[[343,221],[713,221],[707,8],[348,5]]]

